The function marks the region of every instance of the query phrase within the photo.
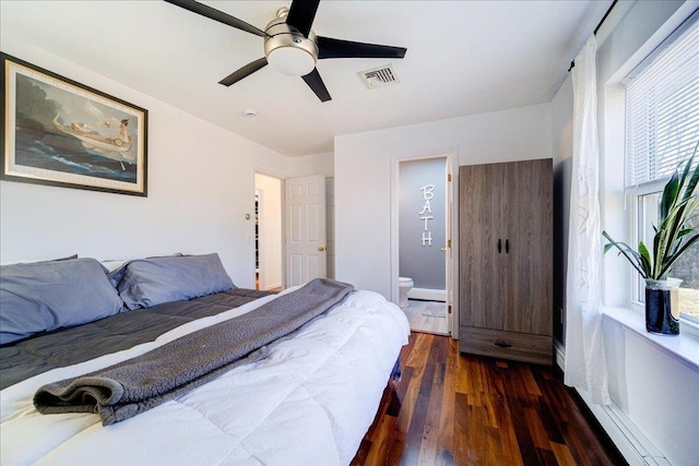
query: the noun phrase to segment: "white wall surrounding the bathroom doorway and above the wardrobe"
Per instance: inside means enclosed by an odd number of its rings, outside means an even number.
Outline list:
[[[454,153],[459,165],[552,156],[548,105],[335,138],[337,279],[391,296],[391,164]],[[454,174],[454,182],[458,179]]]

